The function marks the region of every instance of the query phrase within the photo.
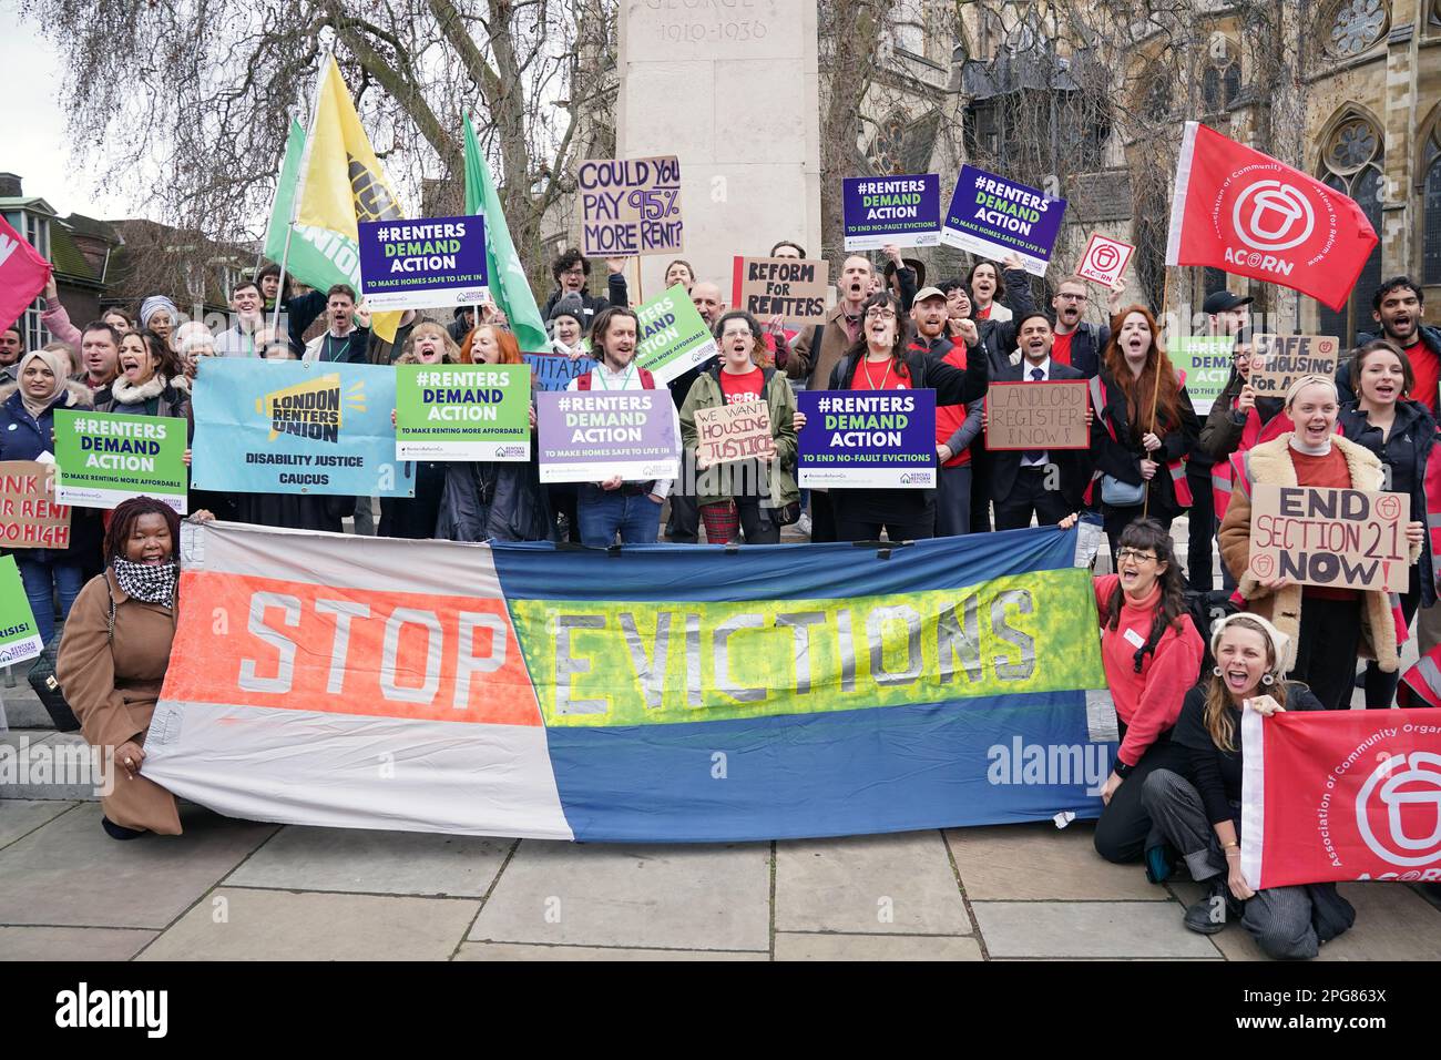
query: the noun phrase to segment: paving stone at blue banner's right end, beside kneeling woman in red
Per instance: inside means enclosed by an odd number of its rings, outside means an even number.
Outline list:
[[[971,901],[1169,901],[1140,865],[1115,865],[1095,852],[1095,823],[1049,821],[945,834]]]

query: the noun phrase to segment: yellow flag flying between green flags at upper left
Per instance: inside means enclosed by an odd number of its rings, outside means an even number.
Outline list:
[[[300,182],[295,224],[329,228],[359,242],[356,222],[401,221],[403,216],[370,147],[370,137],[360,127],[360,115],[350,102],[334,56],[330,56],[316,87],[316,108],[305,138],[305,157],[300,164]],[[370,330],[385,342],[395,342],[399,323],[398,312],[375,313]]]

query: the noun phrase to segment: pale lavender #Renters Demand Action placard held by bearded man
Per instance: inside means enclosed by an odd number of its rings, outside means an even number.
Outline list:
[[[670,391],[536,394],[540,482],[674,479],[680,446]]]

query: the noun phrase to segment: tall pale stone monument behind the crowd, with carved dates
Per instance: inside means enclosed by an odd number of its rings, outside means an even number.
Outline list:
[[[795,239],[820,257],[817,48],[814,0],[623,0],[617,157],[680,159],[673,257],[726,300],[735,254]],[[667,261],[640,260],[646,297]]]

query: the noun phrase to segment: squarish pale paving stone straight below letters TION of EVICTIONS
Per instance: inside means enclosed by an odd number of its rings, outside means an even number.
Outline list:
[[[775,930],[970,935],[940,832],[804,839],[775,848]]]

